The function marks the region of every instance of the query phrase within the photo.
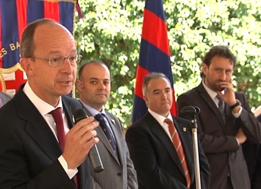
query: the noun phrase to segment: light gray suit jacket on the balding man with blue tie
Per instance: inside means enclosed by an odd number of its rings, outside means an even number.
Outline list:
[[[88,116],[92,116],[85,109]],[[115,156],[112,147],[100,127],[96,128],[97,136],[100,142],[97,144],[100,156],[104,165],[104,170],[95,173],[91,164],[91,181],[92,189],[127,189],[138,188],[136,171],[132,160],[129,157],[128,148],[124,139],[123,129],[120,120],[113,114],[106,111],[106,115],[114,133],[116,145],[118,147],[120,162]]]

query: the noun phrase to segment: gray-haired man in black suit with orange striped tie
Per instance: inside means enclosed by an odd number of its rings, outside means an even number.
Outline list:
[[[195,189],[191,127],[170,114],[171,84],[162,73],[150,73],[142,84],[148,112],[126,131],[126,142],[140,189]],[[201,188],[209,186],[209,164],[199,145]]]

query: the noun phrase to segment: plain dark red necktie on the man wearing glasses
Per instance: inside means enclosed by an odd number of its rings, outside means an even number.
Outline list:
[[[57,137],[59,144],[61,146],[61,149],[63,150],[65,140],[66,140],[66,135],[64,133],[64,126],[63,126],[63,119],[61,115],[61,108],[56,108],[55,110],[51,111],[50,114],[53,116],[54,121],[56,123],[56,132],[57,132]],[[76,187],[78,188],[78,177],[77,174],[74,176],[74,181],[76,184]]]

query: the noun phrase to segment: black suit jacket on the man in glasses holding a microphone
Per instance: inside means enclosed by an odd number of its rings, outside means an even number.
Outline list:
[[[68,125],[72,112],[83,108],[62,97]],[[76,188],[57,158],[61,148],[43,116],[22,91],[0,109],[0,188]],[[78,167],[79,188],[89,184],[89,160]]]

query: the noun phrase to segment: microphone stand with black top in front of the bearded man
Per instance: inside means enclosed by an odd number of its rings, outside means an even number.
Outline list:
[[[180,112],[181,115],[187,117],[191,123],[196,188],[201,189],[200,161],[199,161],[199,147],[198,147],[198,125],[197,125],[197,119],[195,118],[195,116],[197,116],[200,113],[200,109],[197,106],[194,107],[185,106],[180,110]]]

